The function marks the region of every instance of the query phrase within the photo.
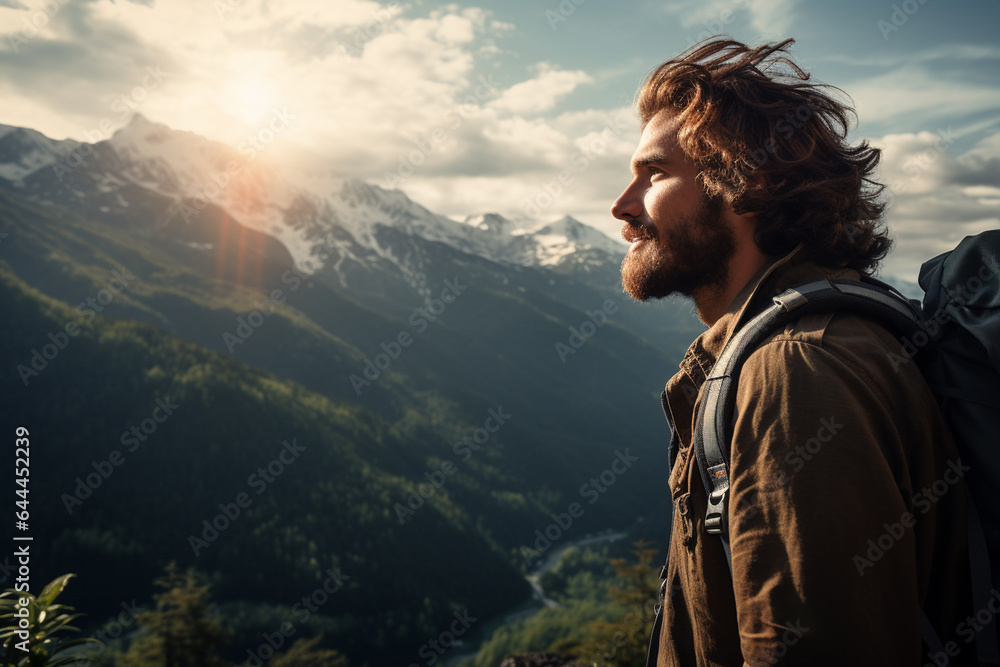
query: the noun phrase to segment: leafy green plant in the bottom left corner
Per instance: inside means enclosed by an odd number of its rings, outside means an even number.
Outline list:
[[[97,640],[64,641],[55,637],[60,632],[79,632],[79,628],[70,623],[83,614],[73,613],[73,607],[56,603],[56,598],[74,576],[64,574],[56,577],[37,596],[13,588],[0,593],[0,642],[4,648],[0,665],[59,667],[88,660],[76,651]],[[22,618],[24,624],[21,623]]]

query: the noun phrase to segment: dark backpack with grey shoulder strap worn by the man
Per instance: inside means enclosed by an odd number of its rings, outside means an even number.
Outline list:
[[[899,355],[910,359],[938,398],[961,456],[971,461],[966,476],[969,554],[973,602],[986,608],[993,582],[1000,582],[1000,230],[966,237],[954,250],[921,266],[923,307],[873,278],[816,280],[789,289],[732,335],[702,387],[692,447],[708,494],[706,531],[722,540],[732,570],[727,537],[729,443],[732,441],[736,383],[743,363],[757,346],[787,322],[803,315],[850,310],[895,333]],[[666,576],[666,567],[661,578]],[[663,582],[666,583],[665,581]],[[661,586],[661,602],[663,586]],[[648,665],[656,664],[662,610],[650,641]],[[940,667],[949,663],[926,615],[921,634]],[[982,665],[1000,665],[997,621],[976,635]]]

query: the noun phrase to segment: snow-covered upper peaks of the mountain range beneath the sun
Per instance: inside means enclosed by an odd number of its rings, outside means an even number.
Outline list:
[[[496,214],[458,222],[437,215],[399,190],[339,174],[290,170],[261,151],[240,150],[142,115],[97,144],[54,141],[24,128],[0,126],[0,178],[41,199],[114,216],[130,206],[153,209],[149,224],[180,217],[197,225],[218,207],[242,225],[274,237],[305,273],[327,270],[342,282],[350,266],[396,265],[419,278],[420,258],[403,252],[394,233],[443,243],[494,262],[558,266],[575,256],[617,264],[625,246],[565,217],[533,229]],[[156,195],[171,210],[144,200]],[[154,211],[159,211],[155,213]],[[129,212],[135,218],[135,210]],[[155,218],[159,218],[157,221]],[[579,261],[579,257],[576,257]],[[419,280],[417,280],[419,282]]]

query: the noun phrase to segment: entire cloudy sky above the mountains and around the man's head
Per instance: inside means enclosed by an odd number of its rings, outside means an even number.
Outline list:
[[[0,0],[0,124],[96,141],[138,112],[456,220],[617,236],[636,89],[717,33],[794,37],[853,101],[851,140],[884,151],[886,275],[1000,227],[995,0]]]

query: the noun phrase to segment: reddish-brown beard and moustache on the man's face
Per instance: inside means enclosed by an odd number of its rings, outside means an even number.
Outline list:
[[[643,227],[639,238],[646,242],[622,260],[625,291],[638,301],[646,301],[723,289],[736,252],[736,237],[723,219],[722,208],[721,201],[703,197],[693,215],[675,219],[664,233],[652,226]]]

